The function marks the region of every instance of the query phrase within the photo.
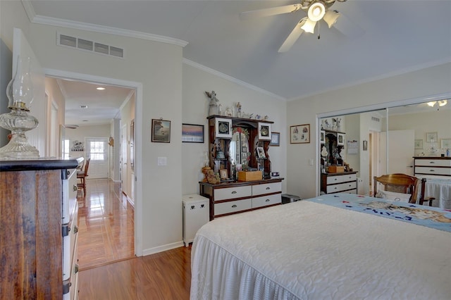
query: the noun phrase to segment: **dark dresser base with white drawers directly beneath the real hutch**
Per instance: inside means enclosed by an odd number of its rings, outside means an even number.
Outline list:
[[[200,194],[210,199],[210,220],[282,203],[282,178],[199,185]]]

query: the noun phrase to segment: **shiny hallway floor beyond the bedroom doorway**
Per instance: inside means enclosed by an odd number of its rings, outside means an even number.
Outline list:
[[[78,264],[80,270],[135,257],[135,213],[111,180],[87,180],[78,193]]]

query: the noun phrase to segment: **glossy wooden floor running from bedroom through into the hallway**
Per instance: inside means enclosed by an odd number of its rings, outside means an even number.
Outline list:
[[[111,180],[78,198],[79,299],[189,299],[191,250],[135,257],[134,210]]]

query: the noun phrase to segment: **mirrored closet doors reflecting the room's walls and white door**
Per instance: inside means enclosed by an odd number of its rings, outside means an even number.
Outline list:
[[[339,118],[340,129],[336,125]],[[447,156],[451,145],[451,103],[450,99],[440,99],[338,115],[321,118],[319,125],[321,173],[327,172],[326,167],[335,162],[333,152],[338,142],[334,134],[343,132],[345,144],[340,151],[343,164],[358,172],[357,193],[371,194],[373,176],[415,175],[414,156]],[[332,136],[326,144],[328,135]]]

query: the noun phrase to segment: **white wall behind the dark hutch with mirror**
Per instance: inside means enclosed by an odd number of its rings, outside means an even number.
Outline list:
[[[194,65],[194,66],[193,66]],[[268,115],[273,121],[271,130],[280,132],[280,146],[269,147],[271,170],[286,174],[287,126],[285,120],[286,102],[271,94],[245,87],[237,82],[212,74],[211,70],[199,68],[195,64],[183,64],[183,123],[204,125],[204,144],[182,144],[183,194],[199,192],[199,180],[202,180],[204,152],[208,151],[208,115],[209,99],[205,92],[214,90],[223,109],[240,102],[242,111],[254,115]],[[286,183],[283,180],[283,192]]]

